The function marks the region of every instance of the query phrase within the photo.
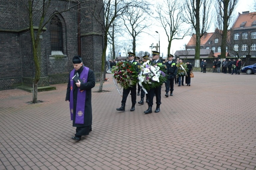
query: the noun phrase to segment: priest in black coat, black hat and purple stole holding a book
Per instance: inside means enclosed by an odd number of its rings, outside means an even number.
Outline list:
[[[92,91],[95,86],[94,72],[85,67],[80,56],[74,56],[74,69],[69,75],[66,101],[69,101],[71,120],[76,127],[75,136],[71,139],[80,141],[82,135],[92,131]],[[80,80],[75,82],[75,76]],[[74,78],[74,80],[73,80]]]

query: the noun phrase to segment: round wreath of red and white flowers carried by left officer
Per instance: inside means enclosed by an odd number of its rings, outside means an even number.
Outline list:
[[[113,77],[124,89],[128,89],[138,83],[138,72],[135,65],[130,62],[120,62],[111,69]]]

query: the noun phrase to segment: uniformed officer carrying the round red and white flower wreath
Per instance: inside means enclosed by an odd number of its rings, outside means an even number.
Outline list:
[[[139,71],[138,65],[140,65],[138,62],[134,60],[135,54],[132,52],[128,52],[128,62],[131,64],[136,65],[136,70],[137,72]],[[123,98],[122,98],[122,106],[120,108],[117,108],[118,111],[125,111],[125,103],[127,96],[129,95],[129,92],[131,91],[131,97],[132,97],[132,107],[130,111],[135,110],[135,104],[136,104],[136,84],[132,87],[129,87],[128,89],[123,89]]]

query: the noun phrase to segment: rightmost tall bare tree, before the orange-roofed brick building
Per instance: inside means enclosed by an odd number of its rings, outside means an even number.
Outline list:
[[[217,0],[215,9],[217,13],[216,25],[221,34],[221,58],[226,57],[227,29],[232,22],[233,12],[236,9],[238,0]],[[222,31],[221,31],[222,30]]]

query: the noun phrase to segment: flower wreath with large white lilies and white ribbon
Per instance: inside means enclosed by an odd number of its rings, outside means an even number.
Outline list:
[[[147,94],[146,90],[161,86],[166,81],[165,65],[151,65],[149,60],[140,66],[139,85]]]

